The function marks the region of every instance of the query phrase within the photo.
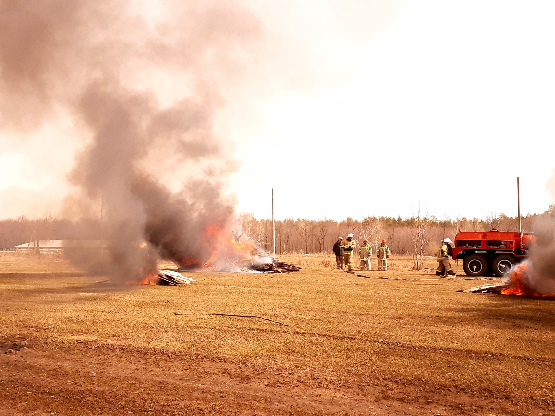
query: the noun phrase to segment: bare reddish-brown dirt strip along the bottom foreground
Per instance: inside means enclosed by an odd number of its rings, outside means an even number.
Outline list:
[[[14,415],[511,413],[463,392],[397,383],[330,388],[208,358],[143,357],[87,345],[4,358],[2,407]]]

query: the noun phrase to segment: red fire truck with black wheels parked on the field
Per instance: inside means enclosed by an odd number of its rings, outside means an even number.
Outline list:
[[[507,276],[528,257],[535,241],[531,232],[460,231],[455,236],[453,260],[462,260],[467,276]]]

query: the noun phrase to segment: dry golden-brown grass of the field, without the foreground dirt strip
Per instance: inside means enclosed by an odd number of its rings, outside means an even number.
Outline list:
[[[260,379],[280,374],[291,386],[346,395],[374,387],[374,403],[406,408],[415,404],[411,394],[427,392],[438,405],[428,410],[447,412],[438,414],[458,414],[448,405],[461,395],[467,404],[491,405],[483,414],[553,410],[555,382],[547,375],[555,369],[554,302],[456,292],[481,281],[355,277],[335,270],[331,256],[281,260],[304,268],[287,275],[189,273],[198,280],[190,287],[122,290],[92,284],[102,277],[81,276],[60,258],[2,257],[0,333],[44,351],[87,344],[129,357],[163,352],[224,362]],[[392,260],[392,270],[364,274],[435,277],[408,271],[410,258]],[[460,265],[455,270],[462,275]],[[289,327],[174,312],[258,315]]]

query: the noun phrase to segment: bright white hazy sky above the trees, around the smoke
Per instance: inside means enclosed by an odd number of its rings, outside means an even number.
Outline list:
[[[214,127],[241,161],[238,211],[270,216],[274,186],[279,219],[410,216],[418,201],[516,215],[517,176],[523,212],[553,202],[554,2],[245,3],[263,48]],[[0,218],[57,211],[83,146],[72,121],[0,144]]]

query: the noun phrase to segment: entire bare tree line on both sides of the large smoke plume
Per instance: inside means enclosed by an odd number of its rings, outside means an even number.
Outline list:
[[[528,214],[522,218],[526,231],[533,231],[533,224],[538,217],[553,212],[551,205],[544,214]],[[244,213],[239,217],[241,230],[254,239],[264,250],[271,251],[272,222],[259,220],[253,214]],[[331,253],[331,247],[337,237],[346,237],[352,232],[361,242],[367,239],[372,246],[379,245],[382,239],[387,241],[391,252],[397,255],[411,255],[415,258],[415,267],[421,264],[423,256],[435,255],[438,243],[444,237],[455,236],[460,231],[487,231],[496,228],[499,231],[517,231],[518,217],[497,214],[490,211],[486,219],[466,219],[457,217],[449,219],[444,216],[437,219],[430,215],[425,205],[418,205],[409,218],[367,216],[360,220],[347,217],[334,221],[326,217],[318,220],[287,218],[276,221],[276,253]],[[105,237],[109,239],[110,230],[105,226]],[[73,240],[100,239],[98,220],[56,219],[50,212],[35,219],[19,217],[18,219],[0,220],[0,248],[37,240]]]

